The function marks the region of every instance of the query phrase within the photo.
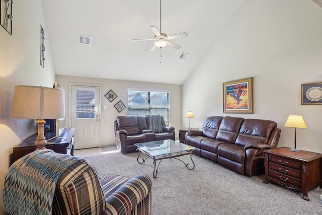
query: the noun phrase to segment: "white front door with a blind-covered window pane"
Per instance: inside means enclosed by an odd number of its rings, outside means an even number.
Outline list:
[[[100,147],[100,87],[70,85],[70,120],[74,148]]]

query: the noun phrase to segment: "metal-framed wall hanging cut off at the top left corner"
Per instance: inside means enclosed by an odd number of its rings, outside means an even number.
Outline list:
[[[0,0],[0,23],[9,34],[12,34],[12,0]]]

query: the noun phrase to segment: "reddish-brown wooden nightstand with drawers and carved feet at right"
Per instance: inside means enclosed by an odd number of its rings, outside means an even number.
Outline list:
[[[302,198],[309,201],[307,192],[318,185],[322,188],[322,154],[292,152],[290,148],[280,147],[265,152],[266,179],[279,185],[302,192]]]

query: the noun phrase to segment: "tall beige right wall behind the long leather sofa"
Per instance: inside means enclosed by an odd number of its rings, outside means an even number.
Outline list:
[[[297,148],[322,153],[322,106],[301,105],[301,84],[322,82],[322,10],[305,0],[245,0],[183,84],[182,117],[193,127],[207,116],[271,119],[279,146],[294,146],[290,114],[302,115]],[[253,77],[254,114],[224,114],[222,83]],[[188,121],[183,118],[183,125]]]

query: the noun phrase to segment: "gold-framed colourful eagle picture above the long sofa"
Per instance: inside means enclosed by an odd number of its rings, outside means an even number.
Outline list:
[[[253,78],[225,82],[223,87],[224,113],[253,113]]]

